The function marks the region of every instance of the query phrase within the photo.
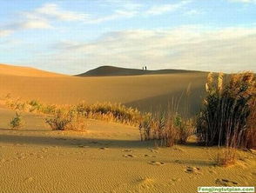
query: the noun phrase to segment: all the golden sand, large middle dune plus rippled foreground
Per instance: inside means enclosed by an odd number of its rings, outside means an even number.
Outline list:
[[[3,66],[1,67],[3,68]],[[17,67],[18,68],[18,67]],[[200,72],[125,77],[70,77],[30,69],[0,70],[1,95],[44,103],[110,101],[158,110],[192,84],[192,112],[205,85]],[[4,72],[3,72],[4,71]],[[18,70],[20,71],[20,70]],[[32,74],[31,74],[32,73]],[[56,131],[45,116],[23,113],[25,127],[10,129],[14,110],[0,105],[0,192],[197,192],[198,186],[255,186],[255,151],[239,150],[232,167],[215,166],[216,147],[158,148],[140,142],[138,128],[88,120],[84,132]]]

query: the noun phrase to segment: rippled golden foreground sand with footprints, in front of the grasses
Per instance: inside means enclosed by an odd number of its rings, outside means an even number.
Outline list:
[[[256,155],[231,168],[213,165],[214,148],[154,148],[136,128],[89,121],[88,132],[58,132],[44,117],[24,114],[23,130],[8,129],[14,112],[0,109],[0,192],[196,192],[198,186],[256,185]],[[190,172],[190,168],[192,172]]]

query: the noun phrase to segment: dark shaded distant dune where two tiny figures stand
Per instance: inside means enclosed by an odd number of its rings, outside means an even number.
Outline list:
[[[83,74],[77,75],[77,77],[113,77],[113,76],[135,76],[135,75],[161,75],[161,74],[173,74],[173,73],[191,73],[199,72],[195,70],[138,70],[138,69],[126,69],[115,66],[100,66],[96,69],[89,70]]]

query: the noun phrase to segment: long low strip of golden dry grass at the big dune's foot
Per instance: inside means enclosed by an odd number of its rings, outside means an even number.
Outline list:
[[[60,115],[60,111],[71,110],[75,112],[77,119],[91,118],[109,122],[124,123],[137,126],[143,118],[143,114],[137,109],[128,108],[120,103],[78,103],[73,106],[57,106],[52,104],[40,103],[37,100],[23,102],[20,98],[12,99],[6,97],[6,105],[12,110],[21,110],[25,112],[42,113],[56,116],[57,120],[67,117]]]

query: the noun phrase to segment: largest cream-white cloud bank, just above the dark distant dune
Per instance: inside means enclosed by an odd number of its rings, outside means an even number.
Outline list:
[[[184,26],[170,30],[125,30],[91,43],[64,42],[58,52],[37,58],[54,65],[67,63],[79,73],[99,65],[150,69],[256,70],[256,28],[206,29]],[[51,61],[54,61],[52,63]]]

